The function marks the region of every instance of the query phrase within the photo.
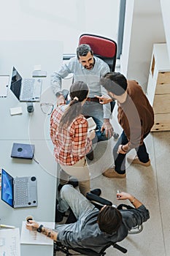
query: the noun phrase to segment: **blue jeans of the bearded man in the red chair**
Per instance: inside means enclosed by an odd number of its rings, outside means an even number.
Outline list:
[[[115,102],[112,102],[111,109],[113,110]],[[85,102],[82,107],[82,114],[86,117],[93,117],[93,120],[96,123],[96,137],[93,139],[93,144],[102,140],[108,140],[106,132],[101,132],[101,127],[104,122],[104,110],[103,105],[98,102]]]

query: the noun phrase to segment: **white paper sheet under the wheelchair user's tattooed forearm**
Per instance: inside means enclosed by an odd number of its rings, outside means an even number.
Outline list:
[[[55,222],[39,222],[39,225],[49,227],[53,229],[55,227]],[[26,229],[26,222],[23,222],[21,235],[20,235],[20,244],[51,244],[53,245],[53,240],[38,233],[37,231],[30,231]]]

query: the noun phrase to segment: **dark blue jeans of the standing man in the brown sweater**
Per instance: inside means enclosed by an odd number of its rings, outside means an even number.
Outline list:
[[[147,137],[149,132],[144,135],[144,138]],[[117,154],[117,149],[120,145],[125,145],[128,143],[128,138],[125,136],[125,132],[123,131],[120,135],[120,138],[117,140],[115,147],[113,148],[113,157],[115,159],[115,171],[120,174],[125,173],[125,156],[126,154]],[[149,161],[149,154],[147,153],[147,148],[143,142],[141,146],[135,148],[136,154],[139,157],[141,162]]]

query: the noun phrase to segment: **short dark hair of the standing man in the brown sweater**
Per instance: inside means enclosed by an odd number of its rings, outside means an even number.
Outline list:
[[[108,72],[101,78],[100,83],[107,91],[117,96],[124,94],[128,86],[126,78],[120,72]]]

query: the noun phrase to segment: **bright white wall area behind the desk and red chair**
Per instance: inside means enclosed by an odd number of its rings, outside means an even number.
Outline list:
[[[57,39],[74,53],[80,34],[117,41],[120,0],[1,0],[1,39]]]

